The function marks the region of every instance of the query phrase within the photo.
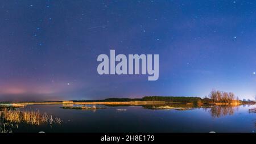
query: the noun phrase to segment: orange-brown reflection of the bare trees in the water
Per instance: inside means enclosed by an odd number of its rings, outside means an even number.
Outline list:
[[[234,115],[235,111],[238,111],[238,107],[231,105],[216,105],[214,107],[205,108],[206,111],[210,112],[210,115],[214,118]]]

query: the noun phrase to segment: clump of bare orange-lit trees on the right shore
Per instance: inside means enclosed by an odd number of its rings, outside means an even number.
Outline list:
[[[208,98],[206,97],[205,99],[213,103],[232,103],[234,100],[239,101],[239,98],[236,97],[233,92],[216,90],[212,90]]]

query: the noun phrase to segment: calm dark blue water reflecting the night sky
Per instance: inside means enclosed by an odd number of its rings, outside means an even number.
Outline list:
[[[107,109],[61,109],[62,105],[28,105],[23,109],[61,118],[61,125],[19,125],[14,132],[255,132],[256,105],[195,108],[187,111],[154,110],[142,106]],[[126,109],[126,111],[117,111]]]

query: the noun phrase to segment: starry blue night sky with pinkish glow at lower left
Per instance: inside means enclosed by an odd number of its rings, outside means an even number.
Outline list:
[[[0,2],[0,100],[256,94],[255,1]],[[97,56],[159,54],[159,79],[99,75]]]

